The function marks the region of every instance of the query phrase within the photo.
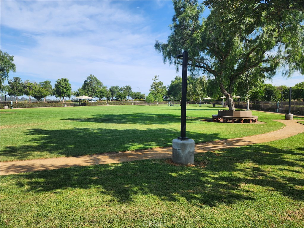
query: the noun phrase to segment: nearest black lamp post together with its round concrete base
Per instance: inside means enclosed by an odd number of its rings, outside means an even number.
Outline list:
[[[182,55],[182,78],[181,78],[181,136],[172,141],[172,161],[176,164],[194,164],[194,140],[186,137],[186,105],[187,105],[187,71],[188,71],[188,51]]]

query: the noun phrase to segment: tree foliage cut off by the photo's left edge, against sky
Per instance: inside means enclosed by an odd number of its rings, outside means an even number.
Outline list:
[[[14,56],[0,50],[0,91],[6,92],[4,81],[9,79],[9,72],[16,72],[16,65],[13,64]]]

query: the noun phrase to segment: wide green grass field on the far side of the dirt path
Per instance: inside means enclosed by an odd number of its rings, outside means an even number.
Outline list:
[[[188,107],[195,143],[271,132],[284,115],[252,111],[264,124],[205,121],[220,107]],[[179,106],[89,106],[1,110],[1,161],[79,156],[172,146],[180,136]],[[294,117],[303,120],[303,118]]]

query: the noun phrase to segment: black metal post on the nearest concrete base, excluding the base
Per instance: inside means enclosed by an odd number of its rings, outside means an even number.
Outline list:
[[[188,51],[176,57],[183,59],[181,78],[181,136],[179,140],[188,140],[186,137],[186,105],[187,105],[187,71],[188,71]]]

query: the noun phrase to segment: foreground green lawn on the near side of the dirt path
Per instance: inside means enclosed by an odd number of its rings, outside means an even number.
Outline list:
[[[2,176],[1,227],[302,228],[303,136],[196,154],[192,167],[145,160]]]

